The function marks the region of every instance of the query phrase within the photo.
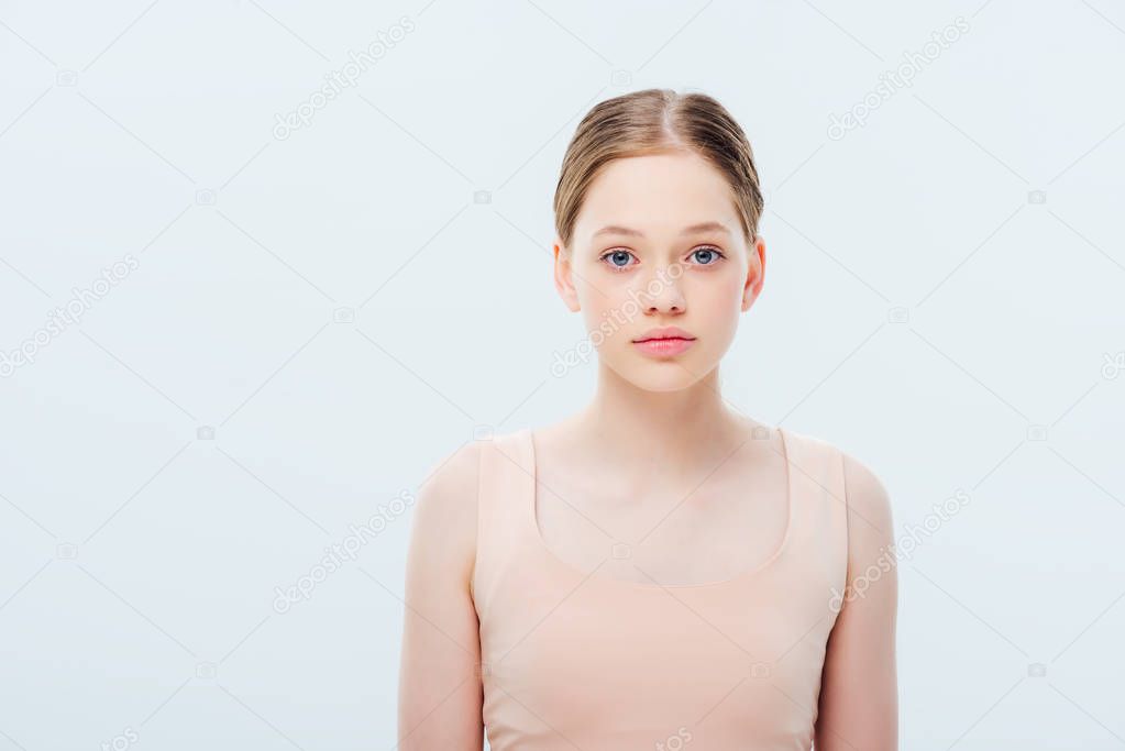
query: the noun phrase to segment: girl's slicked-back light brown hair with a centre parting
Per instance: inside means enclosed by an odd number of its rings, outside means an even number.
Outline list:
[[[555,189],[555,229],[567,248],[590,184],[615,159],[691,151],[727,178],[742,234],[753,245],[762,188],[742,128],[716,99],[672,89],[645,89],[598,102],[575,130]]]

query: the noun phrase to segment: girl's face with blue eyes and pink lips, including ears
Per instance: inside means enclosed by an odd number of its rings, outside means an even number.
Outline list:
[[[590,186],[555,281],[582,310],[601,362],[652,391],[710,373],[762,289],[765,243],[748,247],[722,173],[691,152],[620,159]],[[669,329],[680,331],[652,331]],[[677,336],[663,342],[648,336]]]

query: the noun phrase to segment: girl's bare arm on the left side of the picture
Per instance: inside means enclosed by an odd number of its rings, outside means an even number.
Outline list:
[[[480,639],[469,594],[479,446],[449,455],[418,489],[406,560],[398,678],[400,751],[480,751]]]

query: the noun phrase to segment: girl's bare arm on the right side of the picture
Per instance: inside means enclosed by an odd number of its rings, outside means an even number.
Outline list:
[[[828,639],[814,745],[817,751],[894,751],[898,576],[891,504],[871,470],[847,454],[844,477],[848,586]]]

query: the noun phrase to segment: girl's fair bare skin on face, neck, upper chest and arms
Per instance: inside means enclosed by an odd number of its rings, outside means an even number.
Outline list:
[[[701,223],[718,226],[684,234]],[[601,233],[606,226],[634,233]],[[606,165],[587,191],[570,246],[556,238],[554,250],[556,289],[597,346],[598,379],[584,410],[534,433],[543,485],[566,499],[540,497],[544,542],[592,570],[613,539],[645,539],[652,544],[638,546],[632,560],[598,569],[638,581],[698,583],[748,570],[781,536],[782,494],[757,494],[773,506],[734,499],[752,481],[778,487],[771,483],[783,477],[784,461],[775,442],[747,441],[763,424],[723,400],[719,363],[762,291],[765,241],[746,241],[723,175],[699,155],[675,151]],[[604,322],[613,325],[598,328]],[[632,340],[669,325],[693,334],[695,344],[670,359],[637,351]],[[417,497],[399,673],[404,751],[483,748],[479,624],[469,589],[477,450],[470,442],[444,458]],[[844,459],[854,582],[885,558],[892,517],[880,480]],[[596,482],[584,485],[586,478]],[[584,517],[596,519],[595,528],[575,522]],[[862,597],[845,598],[828,640],[818,751],[898,749],[897,601],[893,567]]]

